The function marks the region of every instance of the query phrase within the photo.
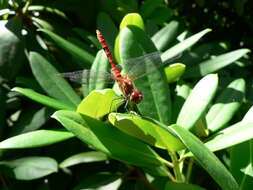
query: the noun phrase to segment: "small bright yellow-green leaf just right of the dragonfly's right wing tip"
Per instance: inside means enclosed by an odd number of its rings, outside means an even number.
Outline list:
[[[173,63],[164,68],[165,75],[167,77],[168,83],[173,83],[177,81],[185,71],[185,65],[182,63]]]

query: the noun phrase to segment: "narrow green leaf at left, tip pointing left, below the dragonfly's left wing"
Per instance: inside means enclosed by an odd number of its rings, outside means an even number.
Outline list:
[[[58,100],[55,100],[53,98],[50,98],[50,97],[42,95],[42,94],[39,94],[39,93],[37,93],[31,89],[28,89],[28,88],[15,87],[12,89],[12,91],[19,92],[36,102],[47,105],[47,106],[52,107],[54,109],[75,110],[75,107],[66,105],[62,102],[59,102]]]

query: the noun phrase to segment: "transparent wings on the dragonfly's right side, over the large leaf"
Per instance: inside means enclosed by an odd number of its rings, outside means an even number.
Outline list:
[[[177,55],[166,62],[162,62],[161,52],[153,52],[137,58],[128,59],[125,61],[124,68],[126,68],[126,73],[130,78],[138,79],[168,63],[173,62],[180,56],[181,55]]]

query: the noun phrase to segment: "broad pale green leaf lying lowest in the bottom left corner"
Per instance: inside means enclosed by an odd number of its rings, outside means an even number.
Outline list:
[[[49,157],[24,157],[12,161],[1,161],[0,167],[7,167],[8,174],[18,180],[33,180],[57,172],[57,162]],[[7,174],[7,175],[8,175]]]

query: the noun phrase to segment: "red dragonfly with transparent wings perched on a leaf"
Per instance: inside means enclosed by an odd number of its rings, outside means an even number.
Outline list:
[[[82,70],[82,71],[74,71],[74,72],[67,72],[67,73],[60,73],[58,76],[68,78],[72,82],[79,82],[82,84],[90,84],[92,79],[94,81],[99,82],[99,80],[106,82],[106,83],[113,83],[116,82],[119,86],[120,91],[122,92],[122,98],[126,102],[126,105],[129,102],[133,102],[134,104],[140,104],[143,99],[143,93],[138,90],[134,85],[134,80],[141,78],[154,69],[157,69],[166,63],[162,63],[162,61],[158,61],[161,59],[160,52],[153,52],[146,54],[144,56],[140,56],[137,58],[131,58],[127,60],[124,65],[128,67],[128,72],[126,74],[122,74],[118,65],[116,65],[112,53],[109,49],[107,42],[105,41],[104,36],[99,30],[96,30],[97,39],[100,42],[108,61],[111,65],[112,72],[105,72],[105,71],[92,71],[92,70]],[[175,58],[169,60],[171,62]],[[154,63],[159,62],[159,65],[152,65],[150,68],[147,68],[147,62]],[[144,69],[147,68],[147,69]]]

